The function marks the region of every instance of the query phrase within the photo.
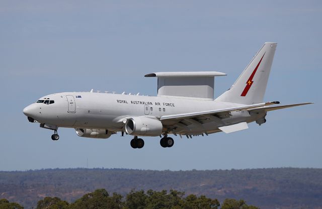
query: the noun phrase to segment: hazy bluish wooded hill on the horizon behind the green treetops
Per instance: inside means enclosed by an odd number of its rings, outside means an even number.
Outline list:
[[[176,189],[222,201],[244,199],[266,208],[322,208],[322,169],[155,171],[134,169],[43,169],[0,171],[0,199],[35,207],[45,196],[73,201],[105,188],[125,194],[132,188]]]

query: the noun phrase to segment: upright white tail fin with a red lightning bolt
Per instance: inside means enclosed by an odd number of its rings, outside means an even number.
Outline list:
[[[263,102],[277,43],[266,42],[229,90],[216,101],[239,104]]]

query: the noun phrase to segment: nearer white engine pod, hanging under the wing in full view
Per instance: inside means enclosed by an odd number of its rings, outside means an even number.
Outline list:
[[[125,131],[135,136],[158,136],[162,134],[163,125],[158,119],[144,116],[128,118]]]

